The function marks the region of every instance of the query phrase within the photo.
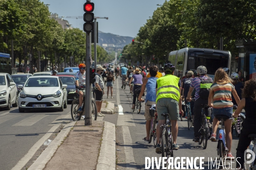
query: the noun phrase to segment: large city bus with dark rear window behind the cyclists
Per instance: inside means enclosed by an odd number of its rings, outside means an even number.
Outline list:
[[[182,48],[169,53],[169,63],[175,65],[175,76],[183,77],[186,71],[196,71],[197,67],[204,65],[207,76],[214,78],[215,71],[220,67],[230,68],[230,51],[209,48]]]

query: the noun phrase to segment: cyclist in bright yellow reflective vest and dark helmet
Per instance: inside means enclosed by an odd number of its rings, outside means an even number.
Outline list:
[[[175,67],[173,64],[168,63],[164,65],[164,77],[157,79],[157,146],[156,153],[161,153],[160,148],[160,126],[165,124],[165,117],[161,114],[169,113],[169,118],[172,124],[172,137],[173,144],[172,148],[177,150],[179,145],[176,142],[178,135],[178,124],[177,119],[179,119],[179,112],[183,116],[183,111],[181,109],[181,98],[180,98],[180,88],[181,81],[180,78],[174,76]]]

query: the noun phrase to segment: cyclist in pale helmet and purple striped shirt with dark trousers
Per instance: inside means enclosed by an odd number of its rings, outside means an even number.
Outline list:
[[[190,84],[189,88],[189,93],[186,99],[191,102],[191,94],[195,88],[195,105],[194,105],[194,139],[193,141],[198,142],[199,141],[199,136],[200,136],[200,128],[201,128],[201,111],[202,111],[202,106],[201,104],[207,104],[208,103],[208,98],[202,98],[199,96],[199,91],[201,89],[200,84],[202,80],[209,80],[212,81],[211,78],[206,77],[207,74],[207,68],[204,67],[203,65],[198,66],[197,68],[198,72],[198,77],[194,78]],[[211,108],[205,108],[205,115],[207,117],[207,124],[208,127],[211,128],[212,125],[209,122],[210,116],[211,116]]]

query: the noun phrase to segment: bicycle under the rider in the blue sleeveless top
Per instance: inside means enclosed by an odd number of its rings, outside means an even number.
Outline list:
[[[154,147],[157,147],[157,114],[154,115],[156,112],[156,105],[151,105],[151,108],[149,109],[149,113],[152,117],[151,119],[151,128],[150,128],[150,134],[149,134],[149,141],[148,143],[151,143],[152,137],[153,137],[153,142],[154,142]]]

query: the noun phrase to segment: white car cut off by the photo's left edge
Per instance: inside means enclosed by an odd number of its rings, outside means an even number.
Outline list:
[[[18,106],[18,91],[10,74],[0,73],[0,108],[6,110]]]

